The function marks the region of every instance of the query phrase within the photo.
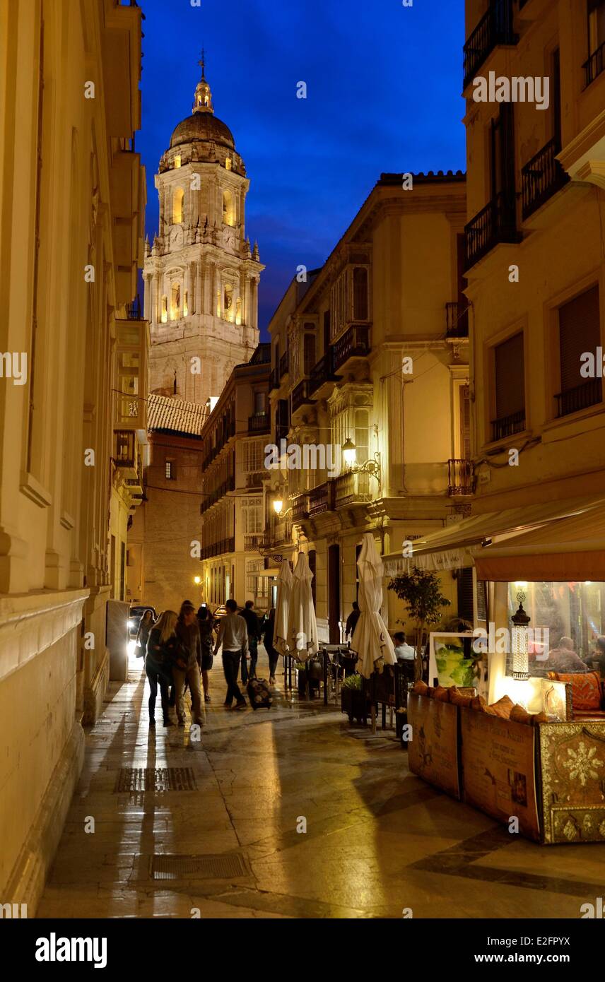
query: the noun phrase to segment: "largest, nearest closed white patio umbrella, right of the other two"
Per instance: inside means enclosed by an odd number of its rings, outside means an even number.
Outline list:
[[[371,532],[365,532],[358,558],[360,616],[351,647],[358,652],[358,672],[369,679],[384,665],[395,665],[395,648],[380,615],[382,607],[382,560]]]

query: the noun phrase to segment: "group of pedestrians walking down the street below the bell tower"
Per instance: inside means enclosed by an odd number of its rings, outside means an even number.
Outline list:
[[[192,722],[203,724],[203,699],[210,702],[209,672],[214,655],[222,647],[223,672],[227,682],[224,705],[240,710],[247,701],[238,684],[240,665],[242,683],[256,678],[258,642],[261,627],[253,611],[253,604],[238,613],[235,600],[226,603],[227,614],[221,618],[216,640],[213,637],[214,619],[205,606],[197,612],[191,602],[181,605],[179,614],[164,611],[154,623],[151,611],[145,611],[138,627],[137,642],[145,656],[145,673],[149,681],[149,726],[155,726],[155,703],[159,686],[160,701],[165,727],[175,725],[171,710],[176,710],[177,722],[185,726],[185,689],[192,693]],[[269,683],[275,684],[278,652],[273,647],[275,610],[269,615],[264,633],[264,643],[269,656]],[[247,660],[249,658],[249,669]],[[234,705],[235,700],[235,705]]]

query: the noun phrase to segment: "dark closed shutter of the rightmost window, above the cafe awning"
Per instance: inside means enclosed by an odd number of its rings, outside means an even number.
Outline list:
[[[599,288],[592,287],[559,307],[562,392],[586,382],[579,374],[580,356],[583,352],[596,355],[600,343]]]

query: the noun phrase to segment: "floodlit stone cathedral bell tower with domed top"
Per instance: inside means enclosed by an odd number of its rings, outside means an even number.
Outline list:
[[[258,344],[258,281],[245,211],[249,181],[205,79],[160,160],[159,232],[145,243],[150,391],[205,405]]]

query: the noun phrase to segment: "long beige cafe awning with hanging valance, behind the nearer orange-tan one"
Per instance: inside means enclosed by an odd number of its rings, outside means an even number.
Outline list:
[[[476,566],[477,576],[480,579],[529,579],[536,578],[525,576],[523,571],[515,572],[513,575],[484,575],[486,567],[483,565],[486,557],[497,556],[500,548],[507,548],[512,545],[512,540],[519,542],[520,537],[528,533],[537,534],[540,530],[548,528],[554,529],[555,525],[565,521],[578,518],[589,524],[590,517],[595,518],[599,512],[605,511],[605,499],[594,498],[574,498],[567,502],[546,502],[540,505],[528,505],[524,508],[507,509],[504,512],[487,512],[483,515],[464,518],[456,524],[448,525],[438,532],[432,532],[422,538],[415,539],[412,543],[413,555],[411,558],[402,554],[390,554],[383,556],[384,572],[386,575],[397,575],[406,573],[411,566],[416,566],[420,570],[433,573],[440,573],[446,570],[456,570],[461,567]],[[586,526],[582,526],[586,527]],[[554,532],[551,534],[551,541]],[[511,541],[509,541],[511,540]],[[506,543],[506,547],[504,544]],[[589,548],[589,542],[585,542],[585,549]],[[534,549],[534,552],[536,550]],[[509,554],[517,555],[517,552]],[[479,572],[479,559],[481,572]],[[505,566],[508,565],[505,564]],[[511,564],[512,568],[512,564]],[[491,573],[494,572],[492,569]],[[502,567],[504,573],[504,566]],[[555,576],[537,577],[555,579]],[[573,579],[574,576],[564,576],[565,579]],[[593,578],[585,575],[582,579]],[[594,578],[597,578],[596,576]],[[603,577],[605,578],[605,577]]]

